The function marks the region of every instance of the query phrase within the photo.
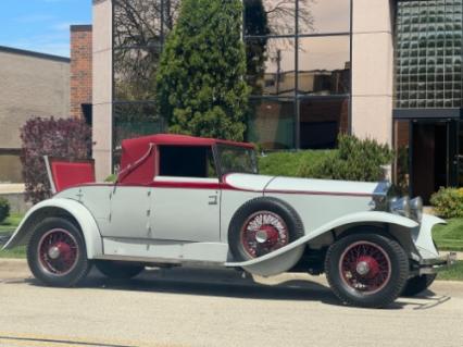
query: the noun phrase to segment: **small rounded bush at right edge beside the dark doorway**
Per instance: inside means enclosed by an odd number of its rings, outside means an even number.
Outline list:
[[[449,219],[463,216],[463,188],[443,188],[433,194],[430,203],[438,215]]]

